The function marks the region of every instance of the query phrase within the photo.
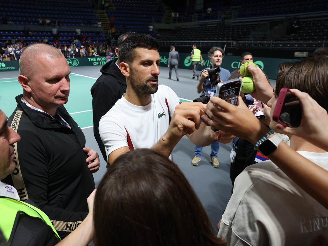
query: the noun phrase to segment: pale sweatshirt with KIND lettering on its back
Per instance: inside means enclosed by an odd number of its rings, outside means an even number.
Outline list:
[[[298,153],[328,170],[328,153]],[[267,160],[236,178],[217,236],[227,245],[280,246],[311,245],[320,235],[328,235],[328,210]]]

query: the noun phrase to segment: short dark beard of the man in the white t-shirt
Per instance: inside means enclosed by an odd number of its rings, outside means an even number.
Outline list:
[[[157,84],[148,84],[148,81],[151,80],[157,80]],[[146,79],[146,81],[143,81],[139,78],[133,78],[133,72],[131,71],[130,85],[137,96],[148,97],[150,94],[154,94],[158,90],[158,76],[150,76]]]

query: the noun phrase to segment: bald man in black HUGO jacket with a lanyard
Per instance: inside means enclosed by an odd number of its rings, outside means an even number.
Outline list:
[[[99,169],[99,157],[85,148],[83,132],[63,106],[71,71],[61,52],[32,44],[22,52],[19,69],[23,94],[16,97],[8,125],[22,139],[14,146],[17,172],[3,181],[14,184],[21,200],[33,199],[63,238],[88,213],[86,199],[94,190],[91,172]]]

